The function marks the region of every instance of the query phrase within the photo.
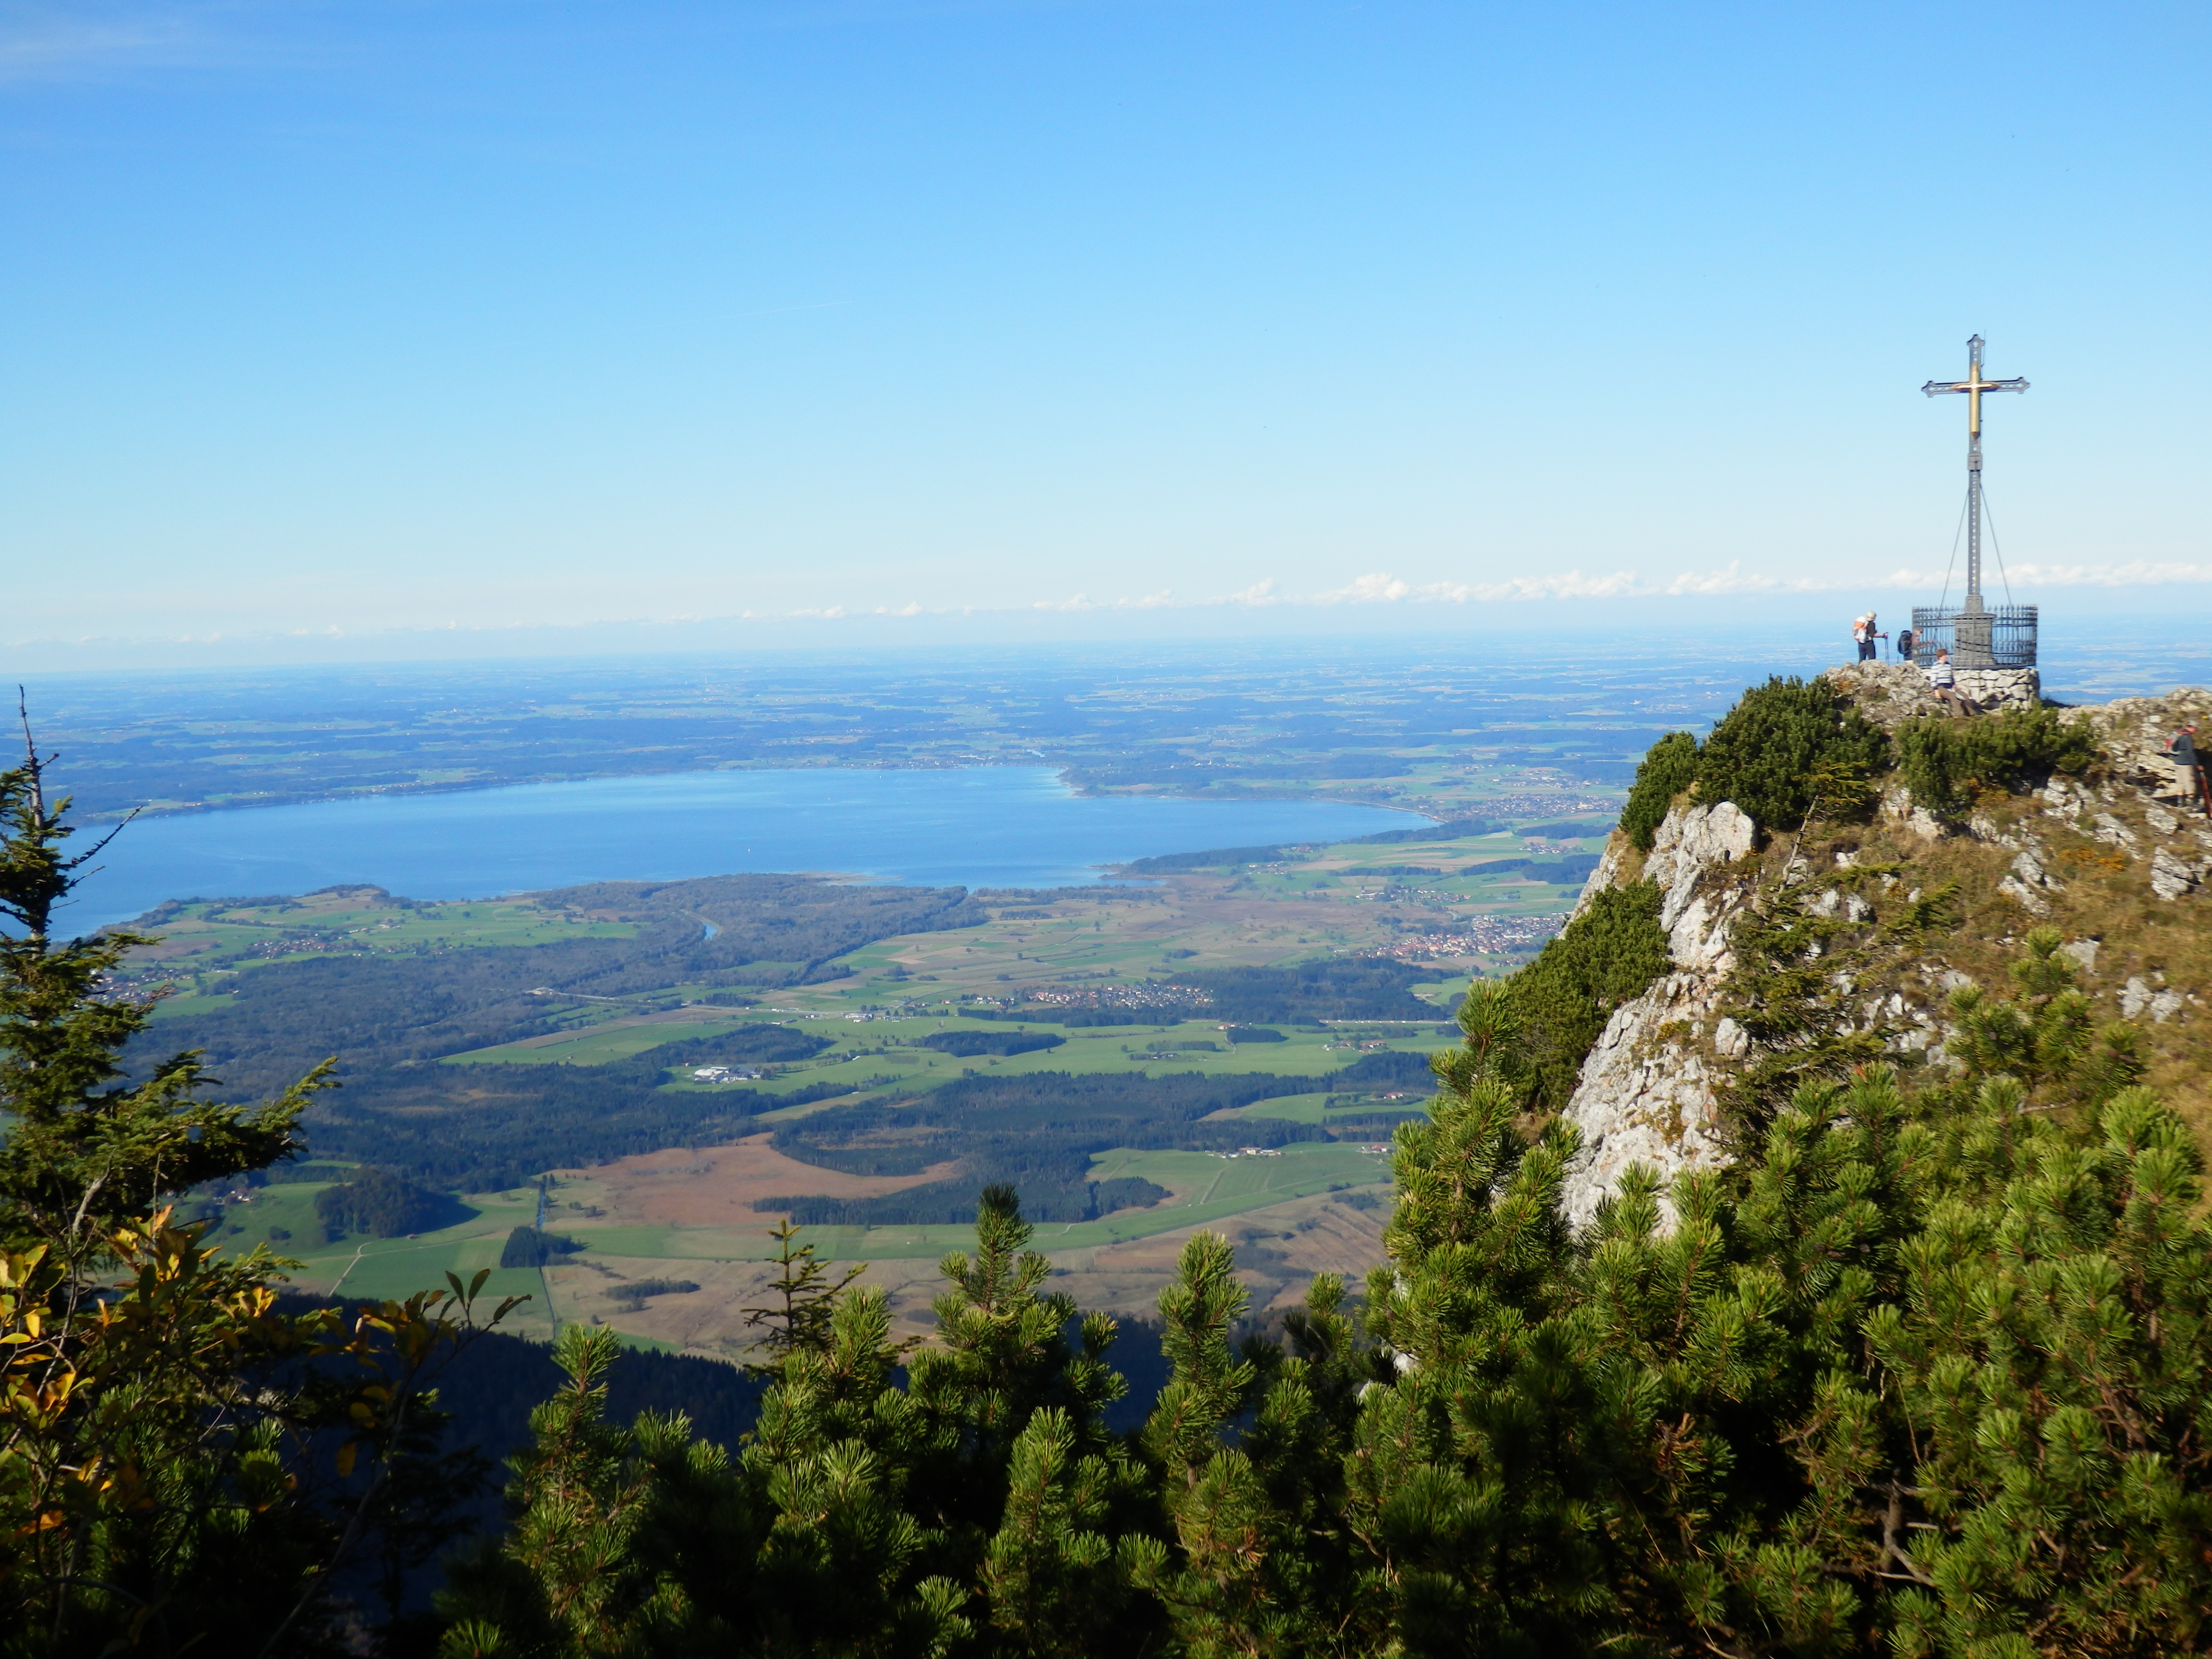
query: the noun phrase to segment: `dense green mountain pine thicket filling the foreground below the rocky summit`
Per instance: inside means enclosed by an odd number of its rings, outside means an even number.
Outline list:
[[[847,1287],[734,1458],[599,1427],[611,1343],[575,1334],[447,1655],[2201,1652],[2197,1148],[2057,936],[1953,1013],[1955,1064],[1805,1077],[1736,1166],[1630,1172],[1577,1237],[1575,1133],[1524,1115],[1480,982],[1365,1303],[1323,1276],[1239,1345],[1234,1254],[1192,1237],[1128,1438],[1110,1327],[1011,1192],[907,1387]]]

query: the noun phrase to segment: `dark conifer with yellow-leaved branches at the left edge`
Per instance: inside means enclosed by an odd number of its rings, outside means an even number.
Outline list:
[[[150,1004],[108,978],[148,940],[53,936],[97,847],[46,763],[0,772],[0,1652],[321,1652],[336,1573],[409,1555],[467,1475],[422,1431],[482,1279],[288,1316],[285,1263],[175,1221],[294,1152],[323,1073],[263,1106],[208,1102],[192,1053],[124,1079]]]

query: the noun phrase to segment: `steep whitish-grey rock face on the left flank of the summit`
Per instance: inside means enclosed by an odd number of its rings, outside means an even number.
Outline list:
[[[1590,1223],[1630,1164],[1668,1177],[1725,1164],[1705,1060],[1659,1033],[1679,1026],[1694,1042],[1710,1031],[1723,1055],[1750,1048],[1734,1020],[1714,1018],[1714,1004],[1732,964],[1728,925],[1750,896],[1750,876],[1719,872],[1752,849],[1754,834],[1741,807],[1719,801],[1677,807],[1652,838],[1644,874],[1659,885],[1659,925],[1677,971],[1615,1009],[1582,1062],[1582,1082],[1566,1106],[1566,1121],[1582,1130],[1582,1152],[1559,1194],[1577,1228]]]

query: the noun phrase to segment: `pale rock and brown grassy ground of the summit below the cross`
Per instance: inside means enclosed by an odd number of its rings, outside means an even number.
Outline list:
[[[1854,664],[1823,679],[1891,734],[1944,717],[1909,664]],[[1613,834],[1575,914],[1601,891],[1655,883],[1670,971],[1613,1011],[1566,1104],[1579,1150],[1562,1208],[1577,1228],[1635,1166],[1672,1179],[1730,1161],[1728,1079],[1761,1048],[1732,1013],[1756,971],[1739,960],[1734,927],[1776,907],[1836,929],[1814,951],[1854,951],[1818,1035],[1871,1035],[1891,1055],[1938,1064],[1949,995],[2017,949],[2028,927],[2059,927],[2101,1009],[2154,1026],[2152,1075],[2203,1124],[2197,1033],[2212,960],[2197,909],[2212,905],[2212,825],[2181,799],[2163,745],[2183,723],[2212,723],[2212,690],[2055,712],[2097,743],[2099,759],[2079,776],[1978,776],[1964,799],[1942,803],[1889,776],[1860,814],[1765,834],[1734,803],[1686,792],[1650,852]],[[1936,940],[1885,929],[1898,905],[1938,887],[1955,889],[1953,927]]]

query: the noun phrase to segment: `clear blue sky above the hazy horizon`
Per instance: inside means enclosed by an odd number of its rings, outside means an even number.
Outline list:
[[[13,0],[0,657],[2208,608],[2205,31]]]

